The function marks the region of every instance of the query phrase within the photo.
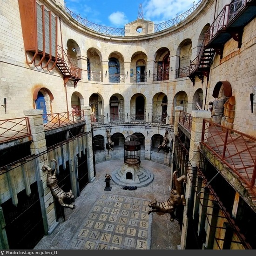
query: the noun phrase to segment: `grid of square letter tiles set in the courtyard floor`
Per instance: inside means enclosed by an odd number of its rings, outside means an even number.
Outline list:
[[[102,194],[67,249],[150,249],[148,201]]]

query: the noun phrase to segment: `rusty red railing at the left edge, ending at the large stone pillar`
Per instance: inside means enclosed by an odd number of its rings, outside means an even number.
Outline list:
[[[0,142],[31,135],[28,117],[0,120]]]

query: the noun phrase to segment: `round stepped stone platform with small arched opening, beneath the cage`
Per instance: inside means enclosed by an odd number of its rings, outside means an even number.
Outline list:
[[[112,181],[120,186],[145,187],[154,179],[151,171],[144,169],[140,164],[129,166],[124,163],[121,168],[116,169],[111,174]]]

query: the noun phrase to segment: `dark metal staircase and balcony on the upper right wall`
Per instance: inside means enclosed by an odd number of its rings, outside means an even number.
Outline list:
[[[195,85],[195,76],[203,82],[209,79],[210,65],[215,54],[222,59],[224,44],[233,38],[242,45],[243,27],[256,17],[256,0],[232,0],[225,5],[207,30],[198,56],[191,61],[188,77]]]

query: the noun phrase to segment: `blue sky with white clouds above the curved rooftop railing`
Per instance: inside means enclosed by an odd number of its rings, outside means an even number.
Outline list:
[[[199,0],[65,0],[65,6],[98,25],[124,27],[137,20],[140,4],[144,20],[159,24],[182,14]]]

